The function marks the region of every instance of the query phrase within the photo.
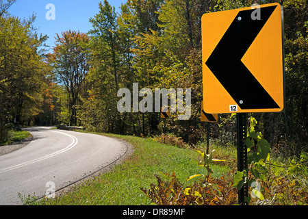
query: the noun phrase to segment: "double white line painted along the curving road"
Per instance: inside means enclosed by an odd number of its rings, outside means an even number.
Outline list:
[[[23,163],[23,164],[17,164],[17,165],[15,165],[15,166],[10,166],[10,167],[8,167],[8,168],[4,168],[4,169],[0,170],[0,173],[1,173],[1,172],[6,172],[6,171],[8,171],[8,170],[14,170],[14,169],[16,169],[16,168],[20,168],[20,167],[23,167],[23,166],[27,166],[27,165],[29,165],[29,164],[34,164],[34,163],[40,162],[40,161],[42,161],[42,160],[44,160],[44,159],[48,159],[48,158],[50,158],[50,157],[54,157],[54,156],[56,156],[56,155],[60,155],[61,153],[64,153],[64,152],[66,152],[66,151],[68,151],[68,150],[70,150],[70,149],[73,149],[73,147],[78,143],[78,140],[77,140],[77,138],[76,138],[75,136],[72,136],[72,135],[70,135],[70,134],[68,134],[68,133],[62,133],[62,132],[60,132],[60,131],[54,131],[54,132],[61,133],[62,135],[65,135],[65,136],[68,136],[68,137],[72,138],[72,139],[73,139],[73,142],[70,143],[70,145],[68,145],[65,149],[62,149],[62,150],[60,150],[60,151],[56,151],[55,153],[51,153],[50,155],[46,155],[46,156],[40,157],[40,158],[38,158],[38,159],[31,160],[31,161],[29,161],[29,162],[25,162],[25,163]]]

